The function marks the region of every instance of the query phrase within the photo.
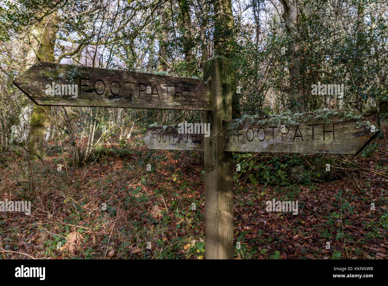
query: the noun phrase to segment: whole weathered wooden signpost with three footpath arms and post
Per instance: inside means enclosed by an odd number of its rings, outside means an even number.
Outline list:
[[[221,56],[204,63],[204,80],[38,62],[14,84],[38,105],[205,111],[207,135],[157,126],[144,142],[204,151],[206,259],[233,259],[232,152],[358,154],[379,130],[354,109],[231,120],[230,75]]]

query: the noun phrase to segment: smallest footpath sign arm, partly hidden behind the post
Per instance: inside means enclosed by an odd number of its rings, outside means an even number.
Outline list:
[[[147,128],[143,140],[148,149],[203,151],[204,134],[179,134],[178,125]]]

